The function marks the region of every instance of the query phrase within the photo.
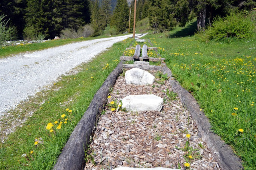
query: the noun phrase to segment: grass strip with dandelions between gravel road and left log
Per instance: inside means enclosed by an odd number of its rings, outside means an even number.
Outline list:
[[[2,120],[5,126],[11,126],[12,120],[27,120],[0,143],[0,169],[51,170],[94,94],[131,42],[132,39],[126,39],[114,44],[110,50],[80,65],[78,73],[62,76],[49,90],[10,111],[12,116]],[[26,116],[28,112],[33,114]]]

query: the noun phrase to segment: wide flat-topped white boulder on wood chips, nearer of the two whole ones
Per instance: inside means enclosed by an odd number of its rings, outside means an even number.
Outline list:
[[[130,95],[122,100],[127,111],[160,111],[164,100],[154,94]]]

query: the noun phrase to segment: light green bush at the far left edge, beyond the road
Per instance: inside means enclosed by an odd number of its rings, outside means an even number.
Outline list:
[[[12,40],[13,38],[16,37],[17,34],[17,29],[14,26],[9,26],[8,22],[9,20],[4,19],[6,17],[4,14],[0,16],[0,45],[4,41]]]

